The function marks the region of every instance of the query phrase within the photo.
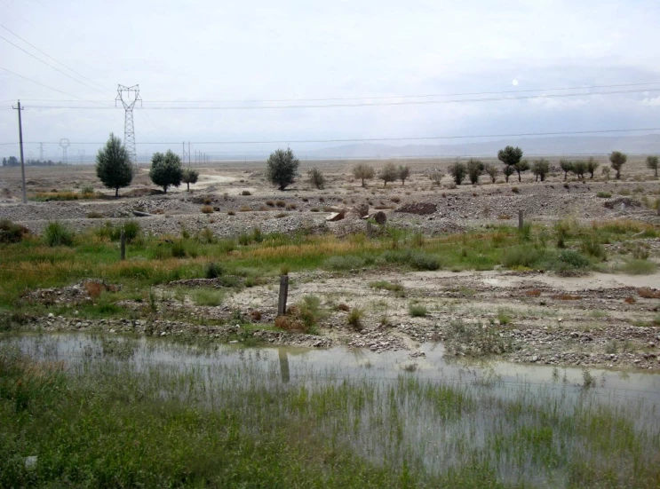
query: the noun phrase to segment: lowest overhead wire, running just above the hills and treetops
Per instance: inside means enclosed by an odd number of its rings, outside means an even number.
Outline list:
[[[655,128],[635,128],[635,129],[604,129],[604,130],[565,130],[553,132],[521,132],[517,134],[473,134],[473,135],[457,135],[457,136],[417,136],[417,137],[403,137],[403,138],[337,138],[337,139],[269,139],[263,141],[244,140],[244,141],[191,141],[195,145],[261,145],[261,144],[274,144],[274,143],[361,143],[361,142],[378,142],[378,141],[423,141],[433,139],[478,139],[478,138],[525,138],[533,136],[576,136],[583,134],[607,134],[618,132],[643,132],[660,130],[660,127]],[[24,142],[26,145],[35,145],[43,141]],[[107,141],[91,142],[91,141],[71,141],[72,145],[105,145]],[[0,143],[0,146],[15,145],[12,143]],[[44,142],[46,145],[59,145],[60,142]],[[146,141],[136,143],[138,145],[180,145],[181,141]]]

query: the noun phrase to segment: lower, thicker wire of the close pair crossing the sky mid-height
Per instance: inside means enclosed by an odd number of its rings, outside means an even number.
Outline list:
[[[144,107],[150,110],[274,110],[274,109],[298,109],[298,108],[331,108],[331,107],[362,107],[362,106],[422,106],[422,105],[443,105],[443,104],[462,104],[475,102],[502,102],[507,100],[528,100],[528,99],[564,99],[567,97],[592,97],[594,95],[613,95],[617,93],[640,93],[647,91],[660,91],[656,89],[624,90],[624,91],[592,91],[591,93],[555,93],[550,95],[523,95],[521,97],[497,97],[486,99],[455,99],[455,100],[419,100],[404,102],[383,102],[376,104],[327,104],[327,105],[307,105],[307,106],[150,106]],[[148,102],[147,102],[148,103]],[[89,106],[32,106],[36,109],[80,109],[80,110],[100,110],[99,107]],[[113,107],[104,107],[113,108]]]

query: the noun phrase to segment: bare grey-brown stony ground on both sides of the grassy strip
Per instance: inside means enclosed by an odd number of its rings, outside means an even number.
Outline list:
[[[382,162],[374,164],[378,166]],[[55,219],[83,230],[107,220],[119,222],[131,217],[147,233],[157,235],[176,235],[183,229],[195,233],[206,227],[219,237],[236,236],[255,227],[262,233],[306,229],[343,235],[363,230],[365,222],[350,217],[329,222],[327,217],[337,210],[366,204],[370,213],[385,212],[388,225],[416,229],[428,235],[511,224],[516,222],[518,210],[523,211],[525,219],[538,224],[551,224],[563,217],[584,221],[625,217],[660,225],[660,217],[651,209],[660,194],[660,185],[648,177],[641,162],[630,162],[624,181],[597,177],[584,181],[569,178],[565,182],[561,174],[555,174],[537,183],[527,175],[521,183],[512,177],[510,183],[489,184],[481,177],[481,185],[457,188],[449,177],[437,186],[425,176],[429,168],[438,164],[413,165],[413,176],[405,185],[398,182],[388,184],[387,188],[377,181],[362,188],[350,176],[350,162],[330,162],[327,167],[319,164],[329,179],[325,189],[317,190],[301,180],[283,193],[266,184],[262,163],[248,164],[248,168],[225,165],[203,169],[200,183],[190,193],[182,189],[159,193],[148,185],[142,170],[135,188],[124,190],[124,196],[117,200],[104,197],[28,205],[18,201],[20,173],[15,169],[0,169],[3,189],[0,219],[19,222],[35,233]],[[102,190],[91,168],[28,169],[28,173],[30,193],[76,190],[90,183],[96,190]],[[598,193],[611,193],[611,196],[599,197]],[[204,206],[210,206],[212,212],[203,213]],[[148,216],[137,217],[136,210]],[[646,245],[651,258],[657,260],[660,241],[647,240]],[[608,251],[616,251],[618,245],[608,246],[611,248]],[[159,313],[155,315],[143,313],[144,304],[129,302],[123,305],[136,312],[139,319],[43,317],[33,318],[30,324],[44,330],[136,331],[148,335],[212,336],[231,342],[256,337],[266,343],[308,347],[347,344],[372,351],[407,350],[413,356],[422,354],[418,351],[421,343],[439,341],[446,344],[448,354],[474,354],[470,350],[473,345],[462,343],[467,336],[462,338],[456,332],[456,324],[462,322],[478,325],[484,332],[478,334],[481,340],[488,338],[488,342],[480,343],[483,351],[476,351],[478,354],[489,353],[490,349],[514,362],[660,369],[660,299],[648,298],[648,293],[640,295],[640,290],[645,288],[651,291],[651,296],[657,292],[658,274],[627,277],[594,273],[588,277],[559,278],[503,270],[357,271],[293,274],[291,280],[290,304],[306,295],[322,298],[326,316],[321,321],[319,335],[296,335],[268,328],[275,318],[274,284],[243,288],[227,296],[219,307],[178,301],[168,296],[168,288],[163,288]],[[403,292],[395,294],[370,288],[368,284],[375,280],[400,284]],[[27,298],[69,304],[84,301],[83,285],[72,287],[33,291]],[[349,311],[338,309],[340,304],[348,310],[364,308],[360,330],[348,326]],[[410,304],[424,305],[427,313],[410,316]],[[170,316],[183,319],[168,319]],[[234,324],[233,318],[242,320]],[[264,328],[242,330],[236,324],[242,324],[243,320]],[[475,335],[474,331],[471,335]]]

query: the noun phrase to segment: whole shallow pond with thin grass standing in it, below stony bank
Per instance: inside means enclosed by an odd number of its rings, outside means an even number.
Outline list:
[[[161,398],[238,410],[248,432],[302,422],[329,446],[429,474],[470,466],[507,484],[644,486],[660,454],[660,375],[457,361],[435,344],[410,358],[120,335],[2,343],[70,375],[139,375]]]

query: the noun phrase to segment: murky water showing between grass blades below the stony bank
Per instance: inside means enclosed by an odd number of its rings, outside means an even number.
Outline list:
[[[612,406],[616,415],[632,422],[638,433],[657,433],[660,375],[648,373],[592,369],[585,374],[577,368],[456,361],[445,358],[441,346],[435,344],[422,345],[425,356],[410,358],[402,351],[376,354],[346,348],[191,346],[120,335],[26,334],[0,337],[0,345],[3,343],[14,343],[35,358],[63,361],[73,373],[76,368],[83,371],[97,362],[104,375],[113,370],[115,375],[122,375],[124,368],[143,370],[151,378],[158,378],[161,372],[192,373],[182,376],[188,383],[165,383],[168,388],[162,391],[163,398],[187,399],[188,393],[197,389],[201,397],[195,400],[202,399],[211,407],[227,403],[243,406],[246,416],[256,416],[252,420],[255,426],[263,416],[290,415],[288,392],[298,392],[298,388],[302,392],[307,387],[307,391],[316,390],[320,397],[315,404],[320,406],[324,387],[334,386],[327,392],[338,398],[346,395],[346,404],[339,402],[336,406],[343,406],[341,409],[331,408],[313,418],[319,436],[349,444],[377,463],[415,461],[431,473],[470,465],[473,454],[477,454],[505,482],[565,487],[569,485],[569,461],[584,457],[603,466],[611,462],[630,468],[636,463],[651,463],[646,454],[650,456],[656,450],[655,442],[648,439],[641,442],[644,448],[635,461],[621,454],[616,455],[616,461],[609,461],[600,452],[592,454],[589,443],[584,443],[586,438],[574,435],[572,427],[562,431],[559,423],[555,425],[553,446],[566,461],[555,466],[528,454],[520,438],[515,438],[516,433],[545,426],[545,416],[533,417],[536,407],[543,411],[545,406],[550,406],[547,413],[552,416],[556,414],[560,419],[566,414],[571,422],[578,423],[576,413],[578,417],[579,413],[600,416],[601,405]],[[199,375],[202,383],[195,380],[200,379]],[[585,375],[593,384],[589,389],[583,386]],[[351,381],[347,386],[346,379]],[[431,397],[425,394],[424,385],[428,383],[433,384]],[[459,388],[453,390],[458,397],[465,394],[475,405],[443,415],[445,405],[434,397],[435,391],[441,391],[435,387],[441,385]],[[250,390],[259,396],[263,390],[271,390],[283,404],[260,406],[250,397]],[[219,394],[214,397],[214,392]],[[332,399],[325,400],[335,406]],[[313,410],[314,403],[307,404]],[[517,406],[521,406],[522,414],[514,414]],[[250,422],[246,422],[245,429],[252,429]],[[494,439],[505,440],[504,448],[499,450]]]

